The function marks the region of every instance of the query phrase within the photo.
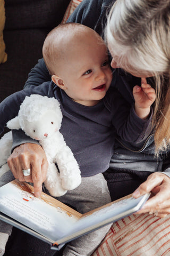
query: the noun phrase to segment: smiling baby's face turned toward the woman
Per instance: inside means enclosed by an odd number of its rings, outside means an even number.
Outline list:
[[[72,45],[61,62],[65,92],[82,105],[94,106],[105,97],[112,81],[107,47],[94,33],[75,38]]]

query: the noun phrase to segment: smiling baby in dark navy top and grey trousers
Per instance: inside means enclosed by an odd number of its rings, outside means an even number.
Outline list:
[[[5,104],[10,102],[11,106],[13,102],[16,108],[18,99],[22,102],[31,94],[60,101],[63,114],[60,131],[77,159],[82,182],[57,199],[86,213],[111,202],[102,173],[109,167],[115,135],[134,143],[149,133],[155,90],[142,79],[141,87],[133,89],[135,103],[130,106],[111,86],[116,79],[112,81],[103,39],[79,23],[66,23],[50,31],[43,45],[43,57],[52,81],[14,93]],[[18,109],[19,106],[14,109],[15,115]],[[48,193],[45,187],[43,190]],[[91,255],[110,226],[71,241],[63,255]]]

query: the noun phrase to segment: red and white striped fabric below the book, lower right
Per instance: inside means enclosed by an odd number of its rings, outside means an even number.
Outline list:
[[[92,256],[170,255],[170,216],[133,214],[113,223]]]

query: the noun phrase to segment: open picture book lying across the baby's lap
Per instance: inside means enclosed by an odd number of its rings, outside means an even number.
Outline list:
[[[129,195],[80,214],[45,193],[35,197],[32,186],[13,180],[0,188],[0,219],[60,250],[72,239],[138,211],[148,198]]]

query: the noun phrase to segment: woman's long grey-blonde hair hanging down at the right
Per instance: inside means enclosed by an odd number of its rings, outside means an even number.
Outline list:
[[[170,1],[117,0],[108,14],[106,41],[117,65],[154,76],[156,154],[170,141]]]

